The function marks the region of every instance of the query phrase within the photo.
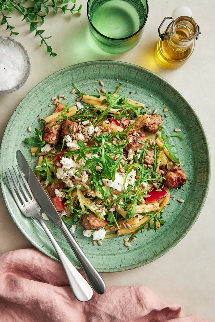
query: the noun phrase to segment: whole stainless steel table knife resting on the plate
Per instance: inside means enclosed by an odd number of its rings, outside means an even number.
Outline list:
[[[34,196],[36,197],[38,204],[40,204],[41,208],[43,209],[44,213],[46,213],[49,220],[52,223],[55,223],[64,233],[66,240],[70,244],[77,260],[79,261],[84,273],[86,274],[86,277],[88,278],[90,285],[97,293],[103,294],[106,290],[106,285],[102,277],[93,267],[91,262],[88,260],[88,258],[82,251],[81,247],[74,239],[73,235],[71,234],[66,224],[60,217],[59,213],[56,211],[53,203],[46,194],[43,186],[40,184],[39,180],[34,174],[34,171],[30,167],[20,150],[16,151],[16,159],[26,181],[28,182]]]

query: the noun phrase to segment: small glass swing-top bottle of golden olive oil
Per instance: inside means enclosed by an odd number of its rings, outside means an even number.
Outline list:
[[[169,24],[166,32],[162,34],[162,38],[157,43],[156,61],[165,68],[182,66],[191,56],[198,34],[199,27],[193,18],[189,16],[176,18],[173,23]]]

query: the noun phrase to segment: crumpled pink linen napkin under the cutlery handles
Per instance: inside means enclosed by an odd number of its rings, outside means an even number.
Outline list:
[[[107,287],[90,301],[73,295],[61,263],[36,249],[0,256],[1,322],[207,322],[146,286]]]

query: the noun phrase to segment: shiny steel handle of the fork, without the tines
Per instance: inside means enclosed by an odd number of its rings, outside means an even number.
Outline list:
[[[55,251],[58,254],[58,257],[64,267],[67,278],[71,289],[73,290],[74,296],[81,302],[89,301],[93,296],[93,290],[88,284],[88,282],[83,278],[78,270],[73,266],[73,264],[68,260],[56,240],[54,239],[52,233],[44,223],[41,217],[37,218],[44,231],[46,232],[48,238],[54,246]]]

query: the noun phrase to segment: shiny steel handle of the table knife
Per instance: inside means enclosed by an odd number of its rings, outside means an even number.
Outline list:
[[[81,247],[78,245],[76,240],[74,239],[73,235],[67,228],[66,224],[62,220],[62,225],[60,226],[62,232],[64,233],[64,236],[66,237],[66,240],[72,247],[72,250],[79,261],[84,273],[86,274],[86,277],[89,280],[90,285],[92,288],[99,294],[103,294],[106,291],[106,285],[102,279],[102,277],[99,275],[97,270],[94,268],[94,266],[91,264],[91,262],[88,260],[84,252],[82,251]]]

